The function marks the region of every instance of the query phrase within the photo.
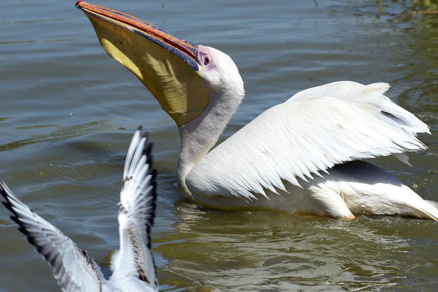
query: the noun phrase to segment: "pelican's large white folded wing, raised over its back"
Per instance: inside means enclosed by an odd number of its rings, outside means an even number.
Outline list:
[[[186,177],[187,187],[205,196],[244,200],[300,186],[320,171],[350,160],[426,149],[416,135],[426,124],[389,100],[388,84],[343,81],[313,87],[276,105],[219,144]]]

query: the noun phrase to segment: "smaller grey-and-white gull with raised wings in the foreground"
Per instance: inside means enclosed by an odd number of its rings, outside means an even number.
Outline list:
[[[123,171],[118,204],[120,250],[111,258],[112,275],[105,279],[88,253],[47,222],[0,179],[0,193],[11,217],[27,240],[52,266],[63,292],[154,292],[158,291],[155,264],[150,251],[150,228],[155,216],[155,170],[151,144],[139,128],[131,141]],[[31,289],[32,290],[32,289]]]

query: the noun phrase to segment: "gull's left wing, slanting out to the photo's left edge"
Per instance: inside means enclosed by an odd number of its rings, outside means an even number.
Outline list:
[[[101,292],[105,281],[100,268],[86,251],[55,226],[32,212],[0,180],[0,193],[6,206],[14,215],[11,217],[27,240],[36,247],[53,268],[53,275],[64,292]]]

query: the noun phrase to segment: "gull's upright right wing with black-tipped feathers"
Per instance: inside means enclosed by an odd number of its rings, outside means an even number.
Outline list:
[[[139,128],[129,145],[119,203],[120,251],[113,256],[113,277],[134,276],[158,291],[155,263],[150,251],[150,228],[155,216],[155,170],[152,144]]]

